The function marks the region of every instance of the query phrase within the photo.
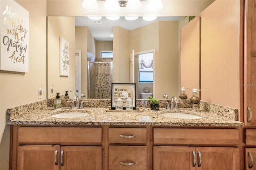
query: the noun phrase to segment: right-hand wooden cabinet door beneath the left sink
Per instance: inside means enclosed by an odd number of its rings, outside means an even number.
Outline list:
[[[101,146],[61,146],[61,170],[102,170]]]

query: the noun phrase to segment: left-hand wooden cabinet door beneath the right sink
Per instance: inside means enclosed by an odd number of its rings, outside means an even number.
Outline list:
[[[154,146],[154,170],[195,170],[196,147]]]

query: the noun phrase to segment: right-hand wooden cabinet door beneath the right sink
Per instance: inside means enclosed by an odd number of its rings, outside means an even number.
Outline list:
[[[196,147],[196,170],[240,170],[239,148]]]

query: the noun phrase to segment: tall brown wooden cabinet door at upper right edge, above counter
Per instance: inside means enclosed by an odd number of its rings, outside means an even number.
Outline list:
[[[256,1],[245,0],[244,123],[256,126]]]

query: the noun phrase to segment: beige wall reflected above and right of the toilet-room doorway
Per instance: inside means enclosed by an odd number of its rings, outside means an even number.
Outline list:
[[[154,98],[178,95],[178,21],[160,21],[130,31],[130,51],[155,50]],[[140,85],[139,85],[140,86]],[[143,89],[140,87],[140,89]],[[137,91],[139,94],[143,91]]]

